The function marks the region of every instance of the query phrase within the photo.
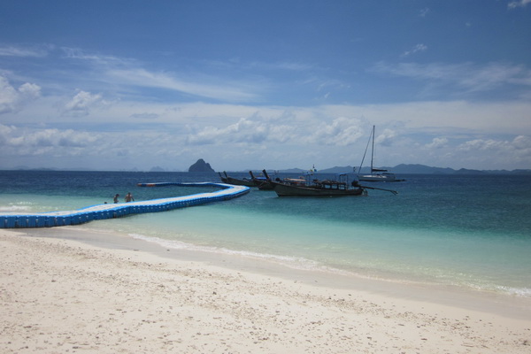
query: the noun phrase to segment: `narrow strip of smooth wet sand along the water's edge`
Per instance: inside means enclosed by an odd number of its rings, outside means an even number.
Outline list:
[[[28,230],[28,229],[27,229]],[[215,253],[202,250],[166,248],[115,231],[103,232],[83,227],[31,229],[37,236],[84,242],[107,250],[134,250],[156,257],[198,262],[207,266],[226,268],[228,271],[273,276],[285,281],[297,281],[330,289],[352,289],[367,294],[410,299],[412,301],[463,307],[478,312],[489,312],[514,319],[531,320],[531,298],[483,290],[463,289],[458,286],[426,284],[418,281],[393,281],[369,278],[357,274],[327,272],[326,270],[298,269],[271,259],[254,258],[241,254]]]

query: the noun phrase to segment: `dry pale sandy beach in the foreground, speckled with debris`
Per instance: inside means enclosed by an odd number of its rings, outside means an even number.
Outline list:
[[[35,235],[0,230],[2,353],[531,352],[528,312]]]

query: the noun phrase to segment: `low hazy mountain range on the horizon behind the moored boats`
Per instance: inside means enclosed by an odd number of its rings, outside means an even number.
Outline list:
[[[358,170],[354,171],[355,167],[352,167],[350,165],[348,166],[335,166],[332,168],[326,168],[323,170],[318,170],[317,173],[352,173],[356,172],[358,173]],[[378,167],[381,169],[389,170],[389,172],[392,173],[403,173],[403,174],[415,174],[415,173],[422,173],[422,174],[531,174],[531,170],[527,169],[518,169],[518,170],[471,170],[466,168],[461,168],[459,170],[454,170],[453,168],[449,167],[431,167],[427,165],[407,165],[407,164],[400,164],[396,165],[394,167],[387,167],[382,166]],[[281,173],[304,173],[308,170],[303,170],[300,168],[291,168],[288,170],[281,170],[279,172]],[[363,167],[361,169],[360,173],[369,173],[370,167]]]

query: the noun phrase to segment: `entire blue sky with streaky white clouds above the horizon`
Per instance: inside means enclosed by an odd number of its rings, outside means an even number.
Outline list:
[[[0,168],[531,168],[531,0],[0,3]]]

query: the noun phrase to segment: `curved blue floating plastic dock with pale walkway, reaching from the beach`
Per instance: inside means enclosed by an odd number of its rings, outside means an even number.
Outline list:
[[[99,204],[70,212],[40,212],[35,214],[3,214],[0,215],[0,228],[27,227],[64,227],[79,225],[92,220],[115,219],[126,215],[145,212],[166,212],[178,208],[186,208],[200,204],[221,202],[249,193],[249,187],[234,186],[226,183],[138,183],[139,187],[219,187],[212,193],[199,193],[191,196],[174,196],[169,198],[145,200],[141,202]]]

